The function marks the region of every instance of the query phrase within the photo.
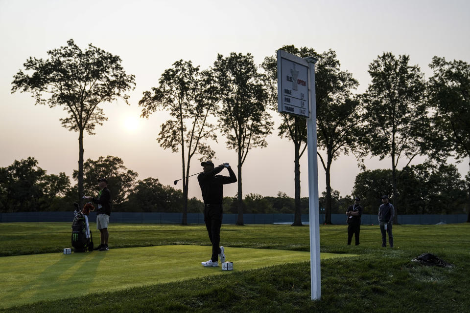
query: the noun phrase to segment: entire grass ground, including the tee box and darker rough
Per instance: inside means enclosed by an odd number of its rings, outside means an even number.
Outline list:
[[[361,227],[358,247],[346,246],[346,226],[321,226],[322,252],[340,257],[322,260],[320,301],[310,300],[308,227],[223,225],[235,271],[222,272],[200,265],[211,250],[203,225],[111,224],[110,251],[64,255],[70,224],[0,224],[1,312],[470,312],[469,224],[396,225],[393,249],[377,226]],[[410,262],[423,252],[455,268]]]

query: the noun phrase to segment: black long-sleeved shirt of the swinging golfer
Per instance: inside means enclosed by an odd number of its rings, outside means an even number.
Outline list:
[[[227,167],[230,177],[216,175],[224,168],[223,165],[215,167],[209,172],[197,175],[199,186],[202,191],[204,204],[221,205],[224,197],[223,185],[236,182],[236,176],[231,167]]]

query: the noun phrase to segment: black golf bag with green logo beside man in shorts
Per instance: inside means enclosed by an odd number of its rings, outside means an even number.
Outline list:
[[[80,211],[78,203],[73,204],[75,211],[72,222],[72,247],[74,252],[93,251],[93,237],[88,224],[88,216]],[[86,211],[86,210],[84,210]]]

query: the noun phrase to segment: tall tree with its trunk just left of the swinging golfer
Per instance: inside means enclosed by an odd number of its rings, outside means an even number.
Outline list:
[[[181,151],[184,200],[181,223],[187,225],[191,158],[197,153],[211,159],[215,154],[206,142],[216,140],[214,131],[217,129],[208,119],[217,108],[217,88],[211,72],[201,72],[199,66],[193,66],[190,61],[177,61],[164,71],[158,87],[143,93],[139,106],[142,107],[141,117],[148,118],[160,109],[171,116],[162,125],[157,140],[165,149]]]

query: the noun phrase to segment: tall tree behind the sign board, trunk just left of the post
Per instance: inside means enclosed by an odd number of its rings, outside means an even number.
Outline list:
[[[307,47],[296,48],[293,45],[284,45],[281,50],[295,54],[301,58],[313,56],[318,58],[315,50]],[[277,52],[276,52],[277,53]],[[273,110],[278,110],[278,67],[276,55],[264,58],[261,65],[266,71],[267,86],[269,90],[270,106]],[[295,213],[292,226],[302,226],[302,207],[300,200],[300,158],[307,147],[307,124],[303,117],[292,116],[290,114],[280,113],[282,123],[278,127],[278,135],[281,138],[287,138],[294,144],[294,203]]]

